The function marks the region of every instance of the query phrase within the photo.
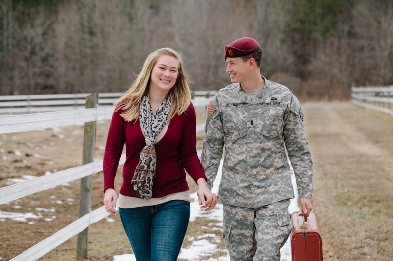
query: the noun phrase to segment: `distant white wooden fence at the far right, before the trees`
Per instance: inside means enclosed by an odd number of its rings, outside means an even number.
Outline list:
[[[393,85],[351,88],[352,103],[393,115]]]

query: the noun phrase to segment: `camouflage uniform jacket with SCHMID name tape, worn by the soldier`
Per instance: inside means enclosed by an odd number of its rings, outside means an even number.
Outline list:
[[[222,203],[259,208],[294,198],[287,148],[299,197],[311,198],[312,159],[298,99],[285,86],[265,79],[252,97],[239,83],[216,93],[206,113],[202,166],[209,187],[224,150],[219,186]]]

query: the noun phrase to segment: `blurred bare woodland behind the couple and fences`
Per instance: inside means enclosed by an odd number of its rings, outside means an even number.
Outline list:
[[[243,36],[299,99],[393,82],[392,0],[0,0],[0,95],[123,92],[161,47],[183,54],[192,90],[219,90]]]

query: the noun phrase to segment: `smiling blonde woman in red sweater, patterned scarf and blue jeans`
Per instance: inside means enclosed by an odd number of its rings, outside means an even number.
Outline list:
[[[186,172],[206,211],[217,203],[197,156],[196,115],[181,56],[170,48],[146,58],[117,101],[104,153],[104,205],[119,213],[138,261],[175,261],[190,217]],[[114,179],[126,146],[117,199]]]

